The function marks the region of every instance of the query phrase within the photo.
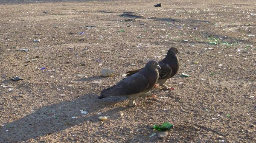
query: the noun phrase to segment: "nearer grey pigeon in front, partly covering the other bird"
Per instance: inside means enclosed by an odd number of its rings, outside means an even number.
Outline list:
[[[159,77],[158,70],[161,69],[158,62],[155,60],[149,61],[143,70],[119,81],[113,87],[102,90],[101,95],[97,98],[102,99],[110,95],[127,96],[129,99],[129,107],[135,107],[135,98],[138,96],[145,96],[157,83]]]

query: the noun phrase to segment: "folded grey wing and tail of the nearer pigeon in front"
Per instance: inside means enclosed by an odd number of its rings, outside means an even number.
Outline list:
[[[149,82],[141,73],[134,74],[120,81],[115,86],[102,90],[101,96],[132,95],[141,93],[149,87]]]

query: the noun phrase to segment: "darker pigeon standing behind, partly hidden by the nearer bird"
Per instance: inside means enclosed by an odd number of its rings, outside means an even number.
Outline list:
[[[164,86],[165,90],[174,90],[174,88],[170,88],[166,85],[166,81],[177,73],[179,70],[179,60],[177,59],[176,54],[180,53],[177,48],[172,47],[168,50],[166,57],[162,60],[159,61],[159,65],[161,67],[161,70],[159,70],[159,79],[157,83],[160,86]],[[140,70],[143,70],[143,68],[138,69],[138,70],[132,70],[128,71],[126,76],[131,76]]]

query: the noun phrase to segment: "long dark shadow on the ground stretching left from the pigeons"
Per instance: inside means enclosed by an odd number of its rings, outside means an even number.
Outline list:
[[[2,123],[2,126],[0,126],[0,142],[22,142],[31,138],[61,132],[85,121],[99,122],[98,117],[100,115],[97,115],[99,112],[102,115],[116,118],[116,112],[129,109],[128,106],[123,107],[119,104],[119,102],[126,99],[126,97],[110,97],[99,100],[95,94],[90,93],[74,101],[64,101],[39,107],[20,119],[10,123]],[[111,109],[102,112],[105,107],[111,107]],[[82,114],[82,109],[88,113]]]

